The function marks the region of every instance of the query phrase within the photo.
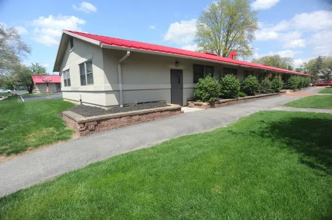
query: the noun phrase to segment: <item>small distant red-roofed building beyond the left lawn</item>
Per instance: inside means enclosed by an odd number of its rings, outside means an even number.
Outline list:
[[[61,92],[60,75],[32,75],[34,93],[46,93],[47,84],[51,93]]]

